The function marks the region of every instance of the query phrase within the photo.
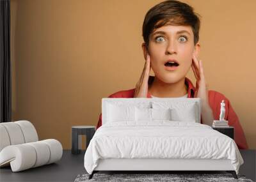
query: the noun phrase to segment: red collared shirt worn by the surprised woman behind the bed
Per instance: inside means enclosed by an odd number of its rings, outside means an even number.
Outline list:
[[[148,78],[148,84],[152,84],[153,80],[154,80],[154,77],[150,76]],[[191,80],[189,80],[187,77],[185,77],[185,84],[188,87],[188,98],[194,98],[195,87],[193,86]],[[108,98],[133,98],[134,91],[135,91],[135,88],[118,91],[116,93],[109,95]],[[218,91],[209,90],[208,97],[209,97],[209,105],[212,109],[214,119],[216,120],[220,119],[220,103],[222,100],[225,100],[225,118],[224,119],[228,120],[228,125],[234,126],[234,139],[238,148],[248,149],[243,128],[239,123],[239,119],[236,115],[236,112],[232,108],[230,101]],[[149,92],[147,94],[147,98],[152,98]],[[201,123],[202,123],[202,117],[201,117]],[[102,114],[100,113],[99,122],[97,124],[96,129],[98,129],[101,125],[102,125]]]

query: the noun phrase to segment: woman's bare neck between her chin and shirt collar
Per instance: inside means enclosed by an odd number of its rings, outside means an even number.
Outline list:
[[[178,82],[168,84],[155,76],[152,84],[148,86],[148,92],[157,97],[180,97],[188,93],[188,87],[185,84],[185,77]]]

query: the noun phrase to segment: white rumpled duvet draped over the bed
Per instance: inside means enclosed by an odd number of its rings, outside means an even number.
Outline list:
[[[238,174],[243,158],[236,142],[211,126],[182,121],[106,123],[84,155],[89,174],[105,158],[229,159]]]

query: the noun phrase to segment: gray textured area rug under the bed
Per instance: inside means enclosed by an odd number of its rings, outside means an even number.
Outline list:
[[[100,174],[96,173],[92,179],[88,179],[89,174],[79,174],[74,182],[85,181],[250,181],[244,175],[237,175],[238,179],[234,179],[232,174]]]

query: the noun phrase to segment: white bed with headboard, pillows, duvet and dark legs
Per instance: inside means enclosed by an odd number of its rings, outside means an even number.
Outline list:
[[[236,142],[200,124],[199,98],[102,98],[102,126],[84,168],[99,171],[227,171],[237,179]]]

